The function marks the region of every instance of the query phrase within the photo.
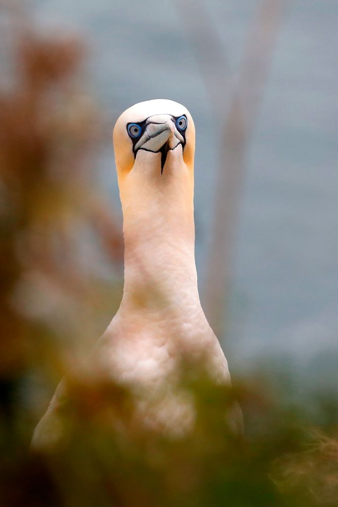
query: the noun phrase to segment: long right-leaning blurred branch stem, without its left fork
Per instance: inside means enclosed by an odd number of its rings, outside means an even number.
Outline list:
[[[205,310],[218,336],[231,284],[238,202],[245,156],[264,93],[285,0],[263,0],[249,31],[242,66],[223,129],[216,179]]]

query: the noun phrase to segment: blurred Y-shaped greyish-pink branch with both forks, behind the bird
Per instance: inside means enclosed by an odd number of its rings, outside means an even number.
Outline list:
[[[238,200],[244,160],[269,71],[285,0],[263,0],[247,37],[242,65],[230,90],[226,50],[201,2],[178,3],[210,94],[214,114],[225,118],[219,149],[212,239],[208,255],[204,309],[211,327],[224,334],[224,308],[233,267]],[[231,96],[230,101],[227,96]],[[229,105],[228,105],[229,103]]]

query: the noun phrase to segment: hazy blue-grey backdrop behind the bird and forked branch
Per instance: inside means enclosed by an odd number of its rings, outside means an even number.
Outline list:
[[[73,30],[90,49],[89,89],[114,126],[130,105],[183,103],[197,129],[196,257],[208,260],[222,119],[215,117],[176,3],[31,0],[42,26]],[[204,2],[227,53],[240,65],[258,1]],[[235,363],[288,353],[298,361],[338,350],[338,3],[287,3],[265,93],[247,149],[233,267],[229,333]],[[109,127],[110,128],[110,127]],[[108,142],[99,177],[120,209]],[[309,363],[309,364],[310,364]]]

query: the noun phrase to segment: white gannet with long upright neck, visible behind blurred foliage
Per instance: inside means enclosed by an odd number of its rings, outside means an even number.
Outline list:
[[[139,421],[182,436],[194,401],[178,386],[180,359],[203,363],[217,384],[231,384],[228,362],[203,312],[195,264],[195,125],[168,99],[129,107],[113,143],[123,211],[124,289],[96,346],[100,368],[134,393]],[[64,381],[37,425],[32,445],[57,440]],[[234,427],[242,431],[239,406]]]

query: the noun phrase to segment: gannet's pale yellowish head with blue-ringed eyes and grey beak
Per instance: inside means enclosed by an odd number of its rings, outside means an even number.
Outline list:
[[[193,177],[194,122],[177,102],[156,99],[129,107],[116,122],[113,140],[119,183],[137,163],[158,169],[161,177],[173,160],[176,166],[183,162]],[[175,157],[168,157],[171,152]]]

